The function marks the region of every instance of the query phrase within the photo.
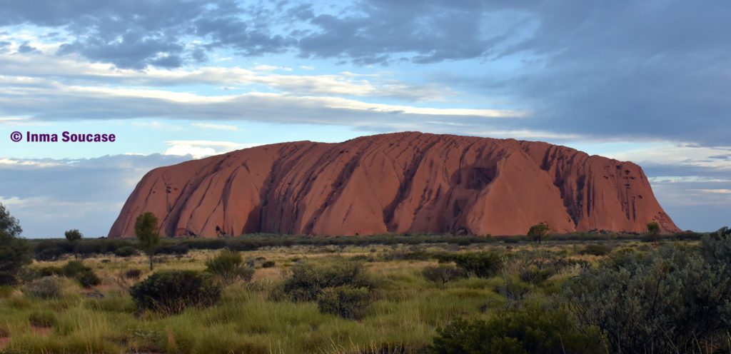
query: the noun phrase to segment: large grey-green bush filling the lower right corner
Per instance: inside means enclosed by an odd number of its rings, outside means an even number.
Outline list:
[[[690,353],[703,343],[713,353],[731,328],[730,260],[731,238],[620,252],[567,282],[567,303],[581,325],[606,335],[610,352]]]

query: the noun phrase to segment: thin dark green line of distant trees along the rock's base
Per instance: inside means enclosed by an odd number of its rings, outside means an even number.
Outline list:
[[[659,240],[700,240],[706,233],[683,232],[659,236]],[[550,235],[544,242],[592,242],[592,241],[659,241],[654,236],[640,233],[566,233]],[[63,255],[114,254],[128,257],[137,253],[135,238],[84,238],[76,243],[65,239],[31,239],[34,258],[55,260]],[[231,238],[164,238],[156,249],[159,255],[184,255],[194,249],[232,249],[254,251],[265,247],[289,246],[369,246],[395,244],[519,244],[530,242],[527,236],[452,236],[439,234],[405,234],[375,236],[293,236],[251,234]]]

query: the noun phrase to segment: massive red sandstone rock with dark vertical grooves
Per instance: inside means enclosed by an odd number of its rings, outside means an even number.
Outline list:
[[[258,146],[151,170],[110,237],[678,231],[643,170],[548,143],[403,132]]]

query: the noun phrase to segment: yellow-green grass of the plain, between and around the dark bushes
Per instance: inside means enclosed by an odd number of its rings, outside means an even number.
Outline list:
[[[506,242],[507,241],[507,242]],[[664,241],[694,246],[696,240]],[[591,246],[594,245],[594,246]],[[600,246],[596,246],[600,245]],[[243,251],[257,270],[250,282],[226,287],[221,303],[179,315],[137,312],[123,275],[130,269],[151,274],[144,255],[93,255],[83,259],[102,278],[93,289],[61,278],[57,298],[32,298],[23,286],[0,287],[0,351],[6,353],[424,353],[438,328],[456,318],[491,320],[515,302],[544,303],[560,298],[561,285],[583,267],[618,252],[650,252],[657,244],[640,238],[529,243],[499,240],[459,244],[258,246]],[[180,255],[156,256],[155,271],[205,269],[216,250],[194,249]],[[444,255],[498,252],[506,263],[488,278],[469,276],[446,284],[429,282],[425,267]],[[568,264],[539,282],[521,280],[526,260],[560,257]],[[73,255],[35,260],[29,273],[50,265],[61,267]],[[293,265],[328,265],[357,260],[374,279],[374,302],[362,320],[319,312],[314,302],[275,299],[277,287]],[[265,261],[273,266],[263,268]],[[271,263],[269,263],[271,265]],[[523,277],[525,278],[525,277]],[[519,284],[518,295],[506,284]],[[39,318],[44,320],[38,320]],[[45,323],[44,323],[45,322]]]

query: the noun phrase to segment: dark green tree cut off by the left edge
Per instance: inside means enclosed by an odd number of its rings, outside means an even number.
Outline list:
[[[18,237],[22,232],[18,219],[0,204],[0,285],[15,283],[20,268],[31,262],[28,241]]]

